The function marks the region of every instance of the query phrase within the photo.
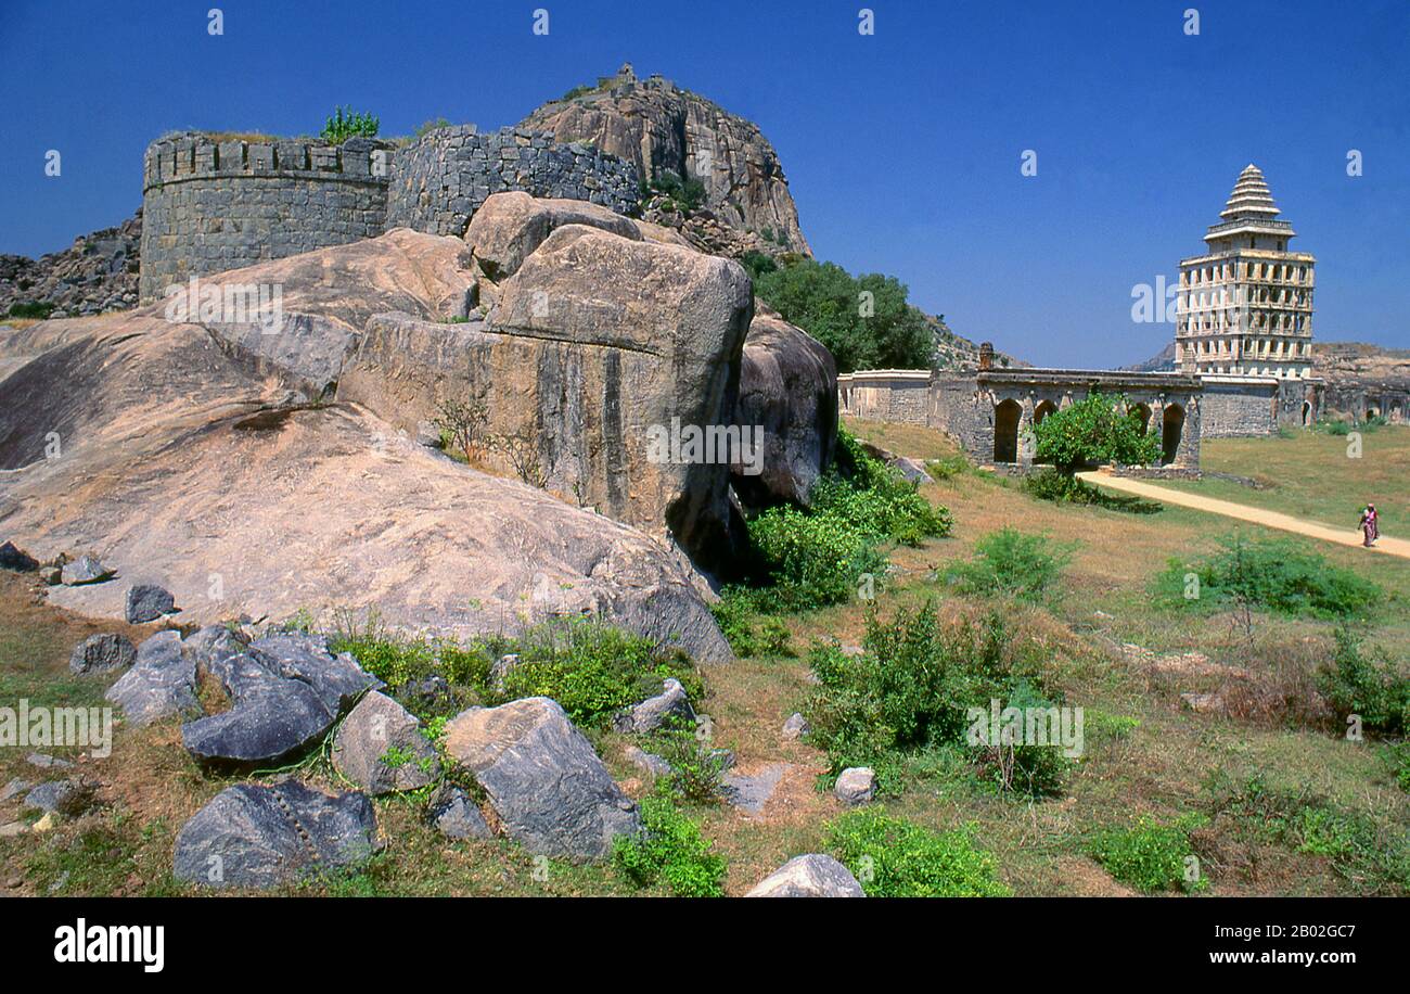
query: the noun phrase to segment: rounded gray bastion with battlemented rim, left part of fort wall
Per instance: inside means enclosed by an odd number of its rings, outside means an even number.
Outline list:
[[[142,300],[190,276],[381,234],[388,142],[159,138],[142,164]]]

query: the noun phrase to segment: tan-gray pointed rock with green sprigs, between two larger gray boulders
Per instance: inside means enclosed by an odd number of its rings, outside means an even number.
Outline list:
[[[440,761],[420,725],[396,701],[371,691],[338,726],[333,767],[372,797],[426,787],[440,775]]]

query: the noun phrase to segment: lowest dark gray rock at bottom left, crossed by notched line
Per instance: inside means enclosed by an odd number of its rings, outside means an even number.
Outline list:
[[[275,887],[355,866],[378,849],[364,794],[330,797],[296,780],[235,784],[182,826],[173,873],[212,887]]]

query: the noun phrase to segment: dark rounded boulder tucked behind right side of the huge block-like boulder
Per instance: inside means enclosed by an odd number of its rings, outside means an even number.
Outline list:
[[[832,464],[838,364],[822,343],[776,314],[754,314],[744,338],[735,420],[763,441],[730,467],[749,506],[798,503]]]

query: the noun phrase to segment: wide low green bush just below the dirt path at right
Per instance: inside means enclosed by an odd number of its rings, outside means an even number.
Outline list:
[[[1198,578],[1197,596],[1186,596],[1186,575]],[[1324,556],[1286,539],[1220,541],[1220,550],[1194,564],[1170,560],[1156,579],[1158,595],[1172,606],[1206,609],[1262,606],[1280,615],[1359,618],[1382,599],[1382,589]]]

